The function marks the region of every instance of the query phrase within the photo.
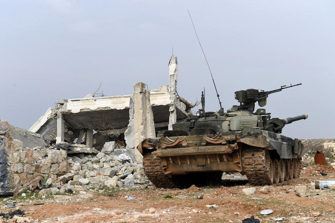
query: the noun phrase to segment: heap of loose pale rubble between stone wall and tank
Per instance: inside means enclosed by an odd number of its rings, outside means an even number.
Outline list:
[[[144,175],[142,164],[134,162],[133,150],[114,147],[115,142],[107,142],[101,152],[95,150],[95,154],[67,154],[67,173],[56,178],[44,179],[46,182],[40,187],[43,189],[39,191],[39,196],[97,190],[101,187],[146,188],[149,181]],[[64,150],[53,150],[50,154],[63,152]],[[57,161],[58,155],[50,157],[55,159],[50,160],[52,163]],[[54,172],[50,169],[50,173]],[[29,184],[26,189],[32,188],[37,187]]]

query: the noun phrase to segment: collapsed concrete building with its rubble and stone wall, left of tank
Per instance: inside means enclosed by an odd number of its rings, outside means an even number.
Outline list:
[[[62,99],[29,131],[0,120],[0,192],[142,184],[136,146],[161,136],[193,107],[177,95],[176,83],[177,60],[172,56],[167,86],[146,90],[139,82],[132,95]]]

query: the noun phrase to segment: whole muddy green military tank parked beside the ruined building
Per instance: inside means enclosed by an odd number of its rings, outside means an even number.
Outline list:
[[[298,178],[303,145],[281,134],[286,124],[307,115],[271,118],[255,103],[266,105],[269,94],[297,86],[281,86],[271,91],[247,89],[235,92],[239,105],[223,111],[202,109],[172,125],[163,137],[143,140],[137,147],[143,155],[146,176],[162,188],[183,188],[192,184],[212,184],[222,173],[241,173],[253,185],[271,185]]]

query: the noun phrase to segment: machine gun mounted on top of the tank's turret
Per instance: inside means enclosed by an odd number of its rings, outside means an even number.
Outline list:
[[[241,90],[241,91],[235,91],[235,99],[240,103],[238,107],[238,110],[249,110],[253,111],[254,110],[254,103],[258,102],[258,105],[260,107],[263,107],[266,105],[266,98],[269,94],[281,91],[282,89],[286,89],[289,87],[294,87],[301,85],[299,84],[294,84],[287,86],[283,85],[280,86],[280,88],[271,90],[271,91],[259,91],[257,89],[247,89],[247,90]]]

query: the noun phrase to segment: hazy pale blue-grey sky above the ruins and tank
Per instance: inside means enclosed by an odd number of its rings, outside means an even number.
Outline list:
[[[267,99],[272,117],[308,114],[284,127],[292,138],[335,138],[335,1],[0,0],[0,119],[29,129],[61,98],[132,94],[168,84],[206,91],[219,109],[189,9],[224,110],[234,91],[302,83]]]

